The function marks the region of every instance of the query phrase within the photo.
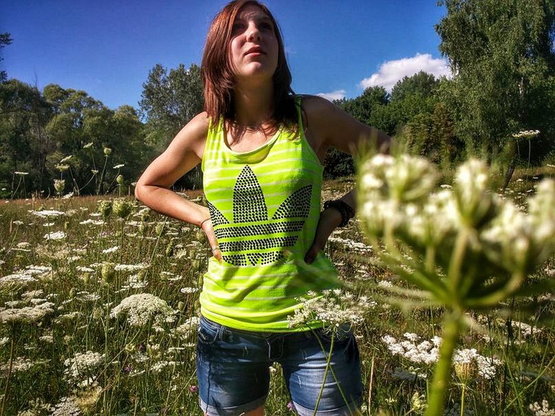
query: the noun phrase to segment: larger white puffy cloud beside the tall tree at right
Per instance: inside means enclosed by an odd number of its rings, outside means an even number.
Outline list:
[[[434,59],[431,54],[416,54],[413,58],[402,58],[397,61],[386,61],[380,65],[380,70],[360,81],[360,87],[366,89],[381,85],[387,91],[404,76],[412,76],[424,71],[439,76],[450,76],[448,62],[444,59]]]

